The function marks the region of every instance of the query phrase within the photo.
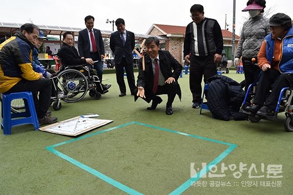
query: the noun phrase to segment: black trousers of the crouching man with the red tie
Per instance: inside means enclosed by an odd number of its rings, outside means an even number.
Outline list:
[[[145,96],[146,98],[143,98],[147,103],[149,103],[151,100],[158,101],[161,100],[158,95],[163,95],[167,94],[168,100],[167,100],[167,105],[172,106],[172,103],[174,101],[174,98],[177,94],[179,88],[178,82],[174,81],[170,84],[165,84],[165,85],[159,85],[157,92],[154,94],[152,90],[147,90],[145,89]],[[137,92],[137,90],[136,90]]]

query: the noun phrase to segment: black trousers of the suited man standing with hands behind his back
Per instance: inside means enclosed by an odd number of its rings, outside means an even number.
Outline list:
[[[120,92],[126,93],[126,85],[124,81],[123,68],[125,68],[125,71],[126,71],[126,77],[127,77],[130,93],[134,94],[134,90],[136,89],[136,86],[135,86],[135,80],[134,80],[134,74],[133,74],[133,63],[127,64],[125,58],[122,58],[120,64],[115,64],[116,80],[119,85]]]

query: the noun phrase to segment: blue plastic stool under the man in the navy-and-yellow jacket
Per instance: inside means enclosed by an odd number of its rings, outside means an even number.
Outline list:
[[[11,113],[11,101],[13,99],[23,99],[25,112]],[[9,135],[12,127],[22,124],[33,124],[35,130],[38,130],[39,121],[32,93],[18,92],[2,94],[1,119],[1,128],[3,129],[4,135]]]

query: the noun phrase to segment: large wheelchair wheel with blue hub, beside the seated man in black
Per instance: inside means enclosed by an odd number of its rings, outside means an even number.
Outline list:
[[[63,89],[66,102],[76,102],[84,98],[88,90],[88,82],[83,73],[74,69],[67,69],[58,74],[58,87]]]

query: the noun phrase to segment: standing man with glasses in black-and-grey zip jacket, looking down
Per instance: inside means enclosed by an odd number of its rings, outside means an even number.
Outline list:
[[[184,40],[185,60],[190,64],[189,88],[192,93],[192,108],[201,104],[201,82],[217,74],[217,63],[223,50],[222,30],[217,20],[204,17],[204,7],[194,4],[190,8],[190,22]]]

